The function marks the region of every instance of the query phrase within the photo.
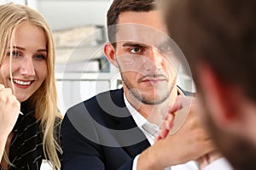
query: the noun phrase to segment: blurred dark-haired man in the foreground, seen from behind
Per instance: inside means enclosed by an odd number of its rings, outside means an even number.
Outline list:
[[[212,139],[233,167],[256,169],[256,2],[172,0],[164,7]]]

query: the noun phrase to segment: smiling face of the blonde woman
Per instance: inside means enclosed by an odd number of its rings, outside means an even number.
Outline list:
[[[2,83],[12,87],[16,98],[23,102],[38,90],[47,77],[44,30],[29,21],[22,21],[12,43],[0,68],[1,78]]]

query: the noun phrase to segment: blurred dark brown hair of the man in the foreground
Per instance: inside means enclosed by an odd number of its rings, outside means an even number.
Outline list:
[[[188,59],[195,82],[197,64],[207,62],[224,82],[239,86],[256,101],[256,1],[166,3],[169,34]]]

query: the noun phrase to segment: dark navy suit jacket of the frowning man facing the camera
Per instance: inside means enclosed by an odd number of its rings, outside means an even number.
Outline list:
[[[61,169],[131,169],[150,145],[124,101],[123,89],[98,94],[70,108],[61,125]]]

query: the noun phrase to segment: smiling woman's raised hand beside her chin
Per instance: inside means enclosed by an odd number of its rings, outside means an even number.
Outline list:
[[[10,88],[0,84],[0,135],[8,136],[15,127],[20,111],[20,102]]]

